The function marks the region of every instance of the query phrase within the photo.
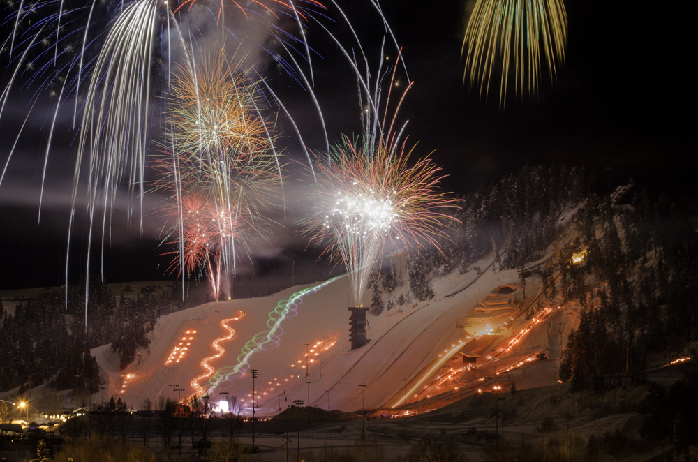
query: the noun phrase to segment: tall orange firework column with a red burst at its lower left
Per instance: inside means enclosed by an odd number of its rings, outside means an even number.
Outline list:
[[[169,96],[172,154],[156,163],[156,184],[172,201],[165,229],[176,237],[172,269],[206,267],[216,299],[222,274],[235,272],[235,244],[261,223],[281,185],[272,128],[262,118],[255,82],[223,52],[179,69]]]

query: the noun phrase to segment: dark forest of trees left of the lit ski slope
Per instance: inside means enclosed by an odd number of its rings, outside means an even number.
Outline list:
[[[154,287],[140,294],[117,297],[101,281],[91,281],[85,327],[84,283],[47,290],[17,301],[14,311],[0,301],[0,389],[49,382],[58,390],[94,393],[101,381],[90,349],[112,343],[121,367],[130,364],[139,347],[147,348],[147,332],[158,316],[185,308],[175,285],[159,293]]]

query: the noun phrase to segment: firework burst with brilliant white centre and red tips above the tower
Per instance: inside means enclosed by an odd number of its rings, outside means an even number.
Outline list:
[[[317,197],[306,222],[311,241],[349,271],[355,304],[361,306],[373,263],[386,246],[436,245],[452,217],[454,200],[438,191],[440,170],[429,158],[410,165],[405,143],[359,148],[346,137],[332,162],[318,167]]]

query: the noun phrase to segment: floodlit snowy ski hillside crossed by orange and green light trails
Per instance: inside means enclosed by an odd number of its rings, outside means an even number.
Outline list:
[[[404,268],[403,258],[395,258],[396,266]],[[149,334],[149,349],[141,350],[124,371],[109,345],[92,352],[108,375],[110,394],[120,394],[133,408],[142,408],[144,398],[184,398],[198,387],[208,392],[209,379],[213,383],[232,372],[215,387],[217,396],[211,401],[228,392],[242,401],[247,414],[251,368],[259,371],[260,415],[274,415],[297,399],[322,408],[360,410],[362,392],[365,408],[397,408],[422,399],[428,403],[434,394],[450,392],[444,396],[451,398],[439,407],[477,387],[510,378],[511,373],[496,375],[497,368],[505,371],[542,351],[558,356],[559,341],[552,330],[558,328],[562,313],[543,311],[526,320],[511,303],[512,297],[523,297],[517,271],[493,271],[491,255],[473,266],[485,269],[433,281],[436,297],[431,300],[369,314],[370,341],[356,350],[350,350],[348,339],[348,280],[339,276],[270,297],[209,303],[165,315]],[[527,304],[539,295],[538,282],[529,281]],[[407,293],[406,288],[400,290]],[[521,334],[519,342],[517,334],[528,327],[531,330]],[[512,341],[515,348],[507,350]],[[459,351],[480,354],[477,368],[461,371]],[[535,366],[540,371],[530,373],[521,386],[556,382],[553,362]],[[447,372],[451,377],[443,383],[439,379]],[[486,375],[495,378],[484,379]]]

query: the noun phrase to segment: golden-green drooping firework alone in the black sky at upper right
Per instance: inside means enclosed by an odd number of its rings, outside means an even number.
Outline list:
[[[541,48],[553,79],[556,61],[565,61],[566,43],[567,13],[563,0],[478,0],[461,48],[461,59],[466,56],[463,84],[469,74],[470,87],[479,84],[480,96],[484,93],[487,98],[493,66],[500,55],[499,104],[503,107],[512,50],[515,87],[517,93],[523,94],[526,85],[528,91],[535,91],[538,86]]]

